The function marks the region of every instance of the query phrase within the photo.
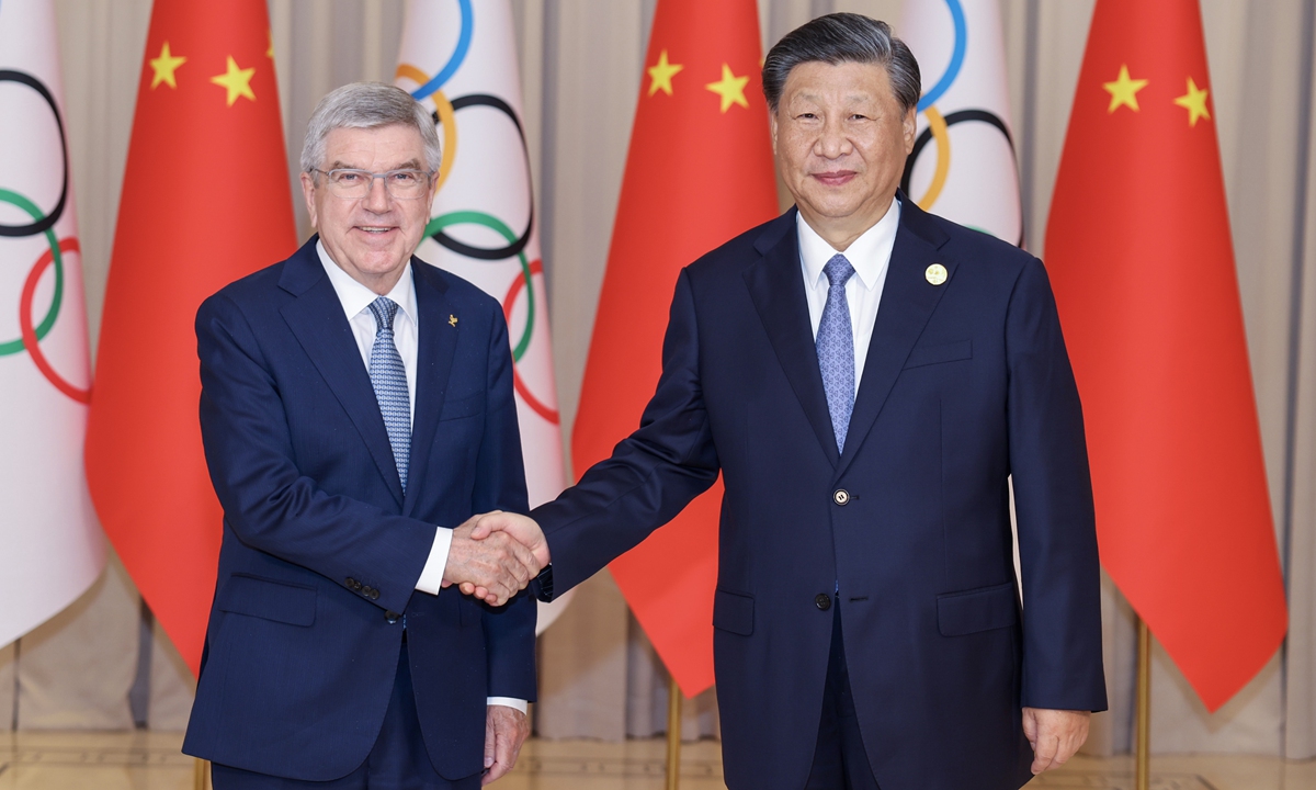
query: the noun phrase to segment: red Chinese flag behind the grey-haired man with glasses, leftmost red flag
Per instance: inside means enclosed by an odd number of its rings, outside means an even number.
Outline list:
[[[105,533],[192,672],[221,511],[201,453],[201,300],[296,245],[265,0],[155,0],[87,427]]]

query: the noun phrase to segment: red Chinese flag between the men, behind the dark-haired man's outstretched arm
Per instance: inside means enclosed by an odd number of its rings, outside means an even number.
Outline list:
[[[636,429],[680,269],[776,215],[754,0],[659,0],[571,437],[576,473]],[[687,695],[713,683],[721,482],[612,565]]]

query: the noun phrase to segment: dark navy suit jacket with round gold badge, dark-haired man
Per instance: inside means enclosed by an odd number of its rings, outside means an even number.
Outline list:
[[[1105,707],[1083,419],[1032,255],[904,200],[840,454],[795,211],[684,269],[640,429],[532,514],[553,589],[640,542],[719,470],[713,645],[733,790],[804,786],[836,614],[819,603],[837,585],[883,790],[1019,787],[1021,706]]]

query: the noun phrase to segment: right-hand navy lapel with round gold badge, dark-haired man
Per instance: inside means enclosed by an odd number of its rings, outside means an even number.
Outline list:
[[[900,195],[900,228],[891,250],[878,320],[873,327],[869,356],[863,363],[863,379],[850,413],[850,431],[845,440],[845,453],[837,466],[837,477],[845,474],[865,437],[882,412],[882,406],[896,383],[913,344],[919,340],[928,319],[932,317],[942,294],[954,283],[955,262],[941,257],[938,248],[948,236],[937,228],[912,200]],[[928,282],[926,269],[932,263],[946,267],[949,276],[941,286]]]

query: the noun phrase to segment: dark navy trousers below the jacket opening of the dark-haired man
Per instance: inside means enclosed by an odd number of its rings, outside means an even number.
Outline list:
[[[845,662],[845,637],[841,633],[840,595],[833,608],[832,653],[822,690],[819,743],[813,749],[813,768],[809,769],[804,790],[879,790],[869,756],[863,750],[859,719],[854,712],[850,672]]]

